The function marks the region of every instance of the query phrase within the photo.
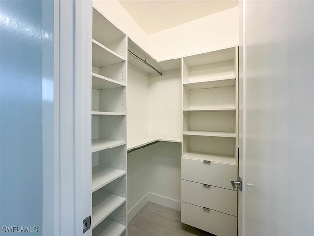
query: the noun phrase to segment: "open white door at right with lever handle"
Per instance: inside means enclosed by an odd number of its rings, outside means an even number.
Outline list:
[[[243,235],[313,236],[314,1],[244,0],[243,35]]]

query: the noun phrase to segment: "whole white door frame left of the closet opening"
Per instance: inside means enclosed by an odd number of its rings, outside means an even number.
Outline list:
[[[55,0],[53,8],[53,144],[43,148],[53,150],[53,157],[43,166],[43,232],[82,236],[83,219],[92,210],[92,1]],[[84,233],[91,235],[91,229]]]

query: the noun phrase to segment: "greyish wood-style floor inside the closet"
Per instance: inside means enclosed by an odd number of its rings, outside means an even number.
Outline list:
[[[180,222],[180,211],[148,202],[128,225],[128,236],[214,236]]]

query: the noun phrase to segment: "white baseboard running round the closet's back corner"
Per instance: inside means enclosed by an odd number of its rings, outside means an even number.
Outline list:
[[[140,212],[140,210],[148,203],[156,203],[158,205],[169,207],[175,210],[181,210],[181,202],[172,198],[167,198],[155,193],[148,192],[144,197],[142,197],[128,212],[128,224],[134,218],[134,216]]]

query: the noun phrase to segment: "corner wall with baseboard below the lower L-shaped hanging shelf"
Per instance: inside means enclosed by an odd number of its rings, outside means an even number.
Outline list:
[[[180,143],[159,142],[128,154],[129,221],[147,201],[180,209]]]

